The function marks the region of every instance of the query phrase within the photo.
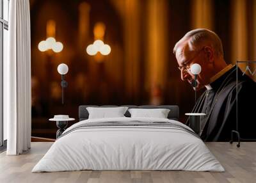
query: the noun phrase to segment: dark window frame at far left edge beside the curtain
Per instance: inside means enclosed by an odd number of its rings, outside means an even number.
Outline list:
[[[8,8],[10,10],[10,0],[7,0],[7,1],[8,1]],[[8,31],[8,21],[4,20],[4,0],[0,0],[0,8],[1,8],[1,13],[0,13],[0,150],[1,150],[3,148],[6,148],[6,141],[4,141],[4,122],[3,122],[3,59],[4,59],[3,49],[4,49],[4,29]]]

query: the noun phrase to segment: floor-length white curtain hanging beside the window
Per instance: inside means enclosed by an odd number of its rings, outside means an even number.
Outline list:
[[[31,55],[29,0],[11,0],[8,60],[4,62],[4,120],[7,152],[18,155],[31,145]]]

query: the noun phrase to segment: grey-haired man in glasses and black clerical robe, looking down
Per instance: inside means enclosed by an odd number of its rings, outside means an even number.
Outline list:
[[[173,53],[182,81],[193,85],[191,65],[202,68],[193,88],[205,92],[192,110],[206,114],[200,118],[200,137],[229,141],[231,131],[237,130],[243,139],[256,139],[256,84],[236,65],[225,62],[219,36],[209,29],[194,29],[175,44]]]

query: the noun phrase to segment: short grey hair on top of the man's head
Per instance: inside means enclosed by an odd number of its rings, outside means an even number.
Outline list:
[[[188,44],[189,51],[198,51],[205,45],[212,47],[216,56],[223,57],[223,47],[220,37],[209,29],[194,29],[186,33],[177,42],[173,48],[173,53],[176,54],[180,45]]]

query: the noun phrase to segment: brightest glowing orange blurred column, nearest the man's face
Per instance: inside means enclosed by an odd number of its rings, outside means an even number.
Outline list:
[[[147,51],[145,66],[146,87],[150,93],[150,104],[163,103],[168,71],[168,1],[150,0],[147,4]]]

